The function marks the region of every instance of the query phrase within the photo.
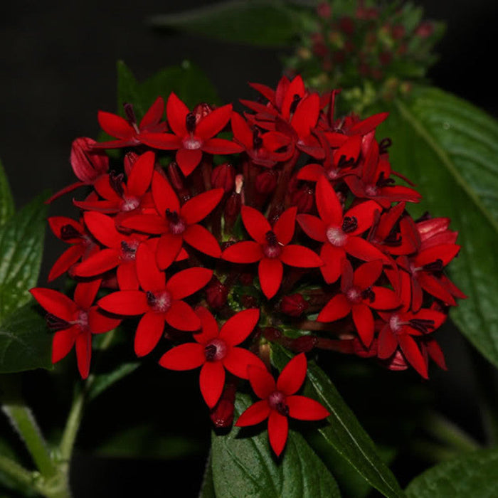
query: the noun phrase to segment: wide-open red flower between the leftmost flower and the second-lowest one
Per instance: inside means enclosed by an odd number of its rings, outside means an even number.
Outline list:
[[[135,334],[137,356],[149,354],[154,349],[161,339],[164,322],[184,331],[201,327],[194,310],[183,299],[201,290],[211,280],[212,270],[191,267],[166,281],[166,275],[156,265],[154,252],[147,244],[142,244],[137,250],[137,275],[142,290],[113,292],[97,303],[110,313],[144,315]]]

